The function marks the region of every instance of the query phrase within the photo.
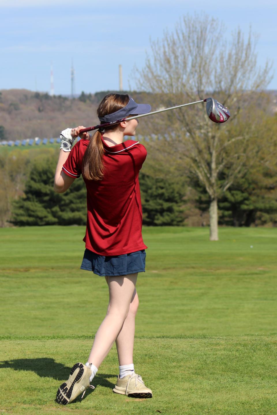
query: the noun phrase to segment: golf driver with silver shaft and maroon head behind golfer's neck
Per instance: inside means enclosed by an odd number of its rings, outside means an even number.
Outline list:
[[[120,122],[123,122],[123,121],[135,120],[137,118],[147,117],[148,115],[159,114],[159,112],[175,110],[176,108],[186,107],[188,105],[194,105],[194,104],[199,104],[203,102],[206,102],[206,110],[207,110],[208,117],[213,122],[217,122],[217,123],[225,122],[230,117],[230,112],[228,111],[228,109],[223,107],[223,105],[220,104],[217,100],[213,98],[205,98],[204,100],[195,101],[189,104],[177,105],[176,107],[164,108],[163,110],[147,112],[147,114],[135,115],[134,117],[128,117],[128,118],[121,118],[120,120],[116,120],[112,122],[105,122],[104,124],[95,125],[94,127],[83,128],[80,130],[80,134],[82,134],[83,132],[93,131],[98,128],[105,128],[110,125],[119,124]]]

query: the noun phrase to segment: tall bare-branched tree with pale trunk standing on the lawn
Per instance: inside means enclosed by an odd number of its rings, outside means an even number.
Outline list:
[[[165,112],[155,119],[157,131],[175,133],[171,151],[210,196],[212,241],[218,240],[218,198],[243,174],[245,159],[255,152],[256,111],[261,91],[272,79],[270,63],[257,67],[257,36],[251,29],[246,40],[239,28],[230,39],[224,32],[223,24],[208,15],[184,16],[174,32],[166,31],[162,40],[151,42],[152,54],[135,78],[139,90],[153,94],[156,107],[212,96],[230,109],[231,117],[223,125],[208,119],[204,104]],[[222,182],[219,178],[226,168]]]

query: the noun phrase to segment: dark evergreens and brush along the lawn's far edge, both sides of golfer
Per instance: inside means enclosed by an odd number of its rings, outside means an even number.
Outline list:
[[[189,225],[193,211],[197,225],[209,225],[210,196],[195,176],[182,173],[182,160],[167,159],[167,137],[142,139],[142,144],[148,151],[140,172],[144,225]],[[165,151],[157,151],[157,146]],[[0,151],[1,227],[86,224],[82,178],[64,194],[53,190],[58,152],[49,148],[43,153],[38,149]],[[218,199],[219,224],[277,226],[276,174],[259,160],[248,167]],[[226,175],[228,170],[221,173],[221,182]]]

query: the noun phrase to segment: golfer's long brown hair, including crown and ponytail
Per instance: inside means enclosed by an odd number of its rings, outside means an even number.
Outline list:
[[[121,108],[126,107],[129,102],[129,95],[108,94],[97,108],[98,117],[112,114]],[[105,130],[114,130],[118,125],[105,127]],[[83,156],[82,175],[87,180],[101,180],[104,174],[103,153],[104,147],[101,139],[102,133],[98,130],[91,137],[86,152]]]

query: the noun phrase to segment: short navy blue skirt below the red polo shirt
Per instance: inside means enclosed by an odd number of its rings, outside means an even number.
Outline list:
[[[145,272],[145,249],[117,256],[98,255],[85,250],[81,269],[93,271],[100,276],[119,276]]]

